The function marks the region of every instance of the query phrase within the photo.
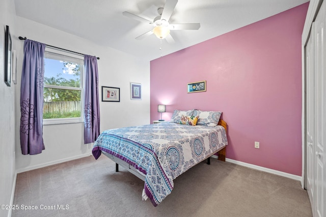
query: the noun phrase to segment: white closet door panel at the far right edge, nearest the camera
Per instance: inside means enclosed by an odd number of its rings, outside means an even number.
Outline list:
[[[318,15],[315,20],[315,216],[326,216],[326,148],[325,148],[325,134],[326,134],[326,95],[325,95],[325,58],[326,58],[326,3],[322,3]]]

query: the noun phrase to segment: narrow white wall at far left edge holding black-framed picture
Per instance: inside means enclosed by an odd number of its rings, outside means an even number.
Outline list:
[[[9,25],[15,37],[16,12],[14,2],[2,0],[0,6],[0,204],[10,204],[15,179],[15,85],[4,82],[5,28]],[[12,48],[16,42],[12,40]],[[9,210],[0,209],[0,216]]]

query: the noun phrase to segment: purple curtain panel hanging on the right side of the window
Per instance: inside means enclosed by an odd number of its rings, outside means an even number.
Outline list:
[[[96,57],[84,55],[84,143],[93,143],[100,134],[100,107],[98,100],[98,71]]]

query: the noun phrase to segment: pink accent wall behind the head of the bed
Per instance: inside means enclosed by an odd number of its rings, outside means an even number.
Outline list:
[[[221,111],[227,158],[301,176],[301,35],[308,5],[151,61],[151,121],[160,119],[158,104],[167,105],[166,120],[175,109]],[[201,80],[206,92],[187,93],[187,83]]]

